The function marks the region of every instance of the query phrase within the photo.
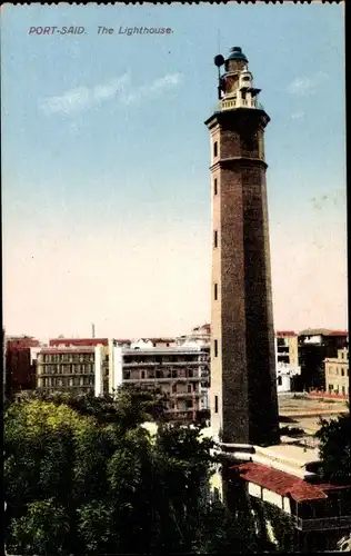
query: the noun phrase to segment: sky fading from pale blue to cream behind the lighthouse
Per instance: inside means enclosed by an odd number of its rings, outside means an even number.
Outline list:
[[[29,34],[81,26],[84,34]],[[99,36],[98,27],[172,33]],[[347,327],[338,4],[2,9],[4,326],[183,334],[210,318],[213,57],[241,46],[265,133],[277,328]]]

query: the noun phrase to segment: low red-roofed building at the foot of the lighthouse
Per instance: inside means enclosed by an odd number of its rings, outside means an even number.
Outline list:
[[[220,444],[218,449],[227,459],[231,496],[241,496],[244,490],[257,533],[264,530],[263,537],[278,544],[274,534],[281,533],[281,518],[288,518],[290,530],[285,523],[279,552],[328,552],[350,530],[351,486],[320,478],[318,448],[282,441],[268,447]],[[219,471],[211,488],[213,497],[223,498]],[[273,512],[270,506],[274,506]]]

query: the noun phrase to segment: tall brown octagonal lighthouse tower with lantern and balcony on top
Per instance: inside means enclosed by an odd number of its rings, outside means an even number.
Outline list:
[[[264,129],[241,48],[214,59],[211,141],[211,427],[229,444],[279,443]],[[221,67],[224,73],[221,75]]]

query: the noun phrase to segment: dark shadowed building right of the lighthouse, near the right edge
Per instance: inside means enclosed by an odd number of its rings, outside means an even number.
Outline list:
[[[338,356],[348,347],[349,332],[327,328],[309,328],[299,332],[299,365],[301,376],[295,380],[297,390],[323,390],[325,385],[324,359]]]

